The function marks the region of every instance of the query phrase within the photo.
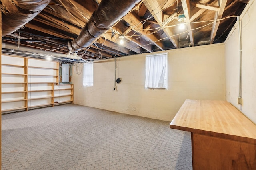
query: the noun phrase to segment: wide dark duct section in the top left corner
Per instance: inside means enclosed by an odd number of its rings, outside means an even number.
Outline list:
[[[1,0],[2,36],[33,20],[51,0]]]

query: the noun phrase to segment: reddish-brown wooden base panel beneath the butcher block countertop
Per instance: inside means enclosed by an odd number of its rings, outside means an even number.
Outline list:
[[[191,133],[193,170],[256,170],[256,144]]]

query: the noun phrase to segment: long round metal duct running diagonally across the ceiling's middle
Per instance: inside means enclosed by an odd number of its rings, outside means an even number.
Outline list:
[[[123,18],[141,0],[102,0],[97,10],[87,21],[81,33],[69,43],[70,51],[88,47],[98,37],[106,33],[117,21]]]

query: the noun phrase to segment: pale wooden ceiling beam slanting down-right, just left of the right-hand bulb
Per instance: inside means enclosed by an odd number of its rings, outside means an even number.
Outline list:
[[[144,0],[143,3],[148,8],[148,11],[152,14],[152,16],[154,16],[158,25],[160,27],[162,27],[163,26],[163,24],[162,24],[162,21],[163,21],[162,8],[159,6],[158,1],[157,0]],[[169,37],[169,39],[172,42],[172,44],[174,45],[174,47],[178,48],[178,41],[177,41],[177,39],[174,39],[174,37],[172,37],[174,35],[174,33],[172,33],[171,28],[165,27],[165,28],[163,28],[163,31]]]

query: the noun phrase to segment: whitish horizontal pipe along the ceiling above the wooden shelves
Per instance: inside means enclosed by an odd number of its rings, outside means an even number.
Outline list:
[[[50,56],[54,56],[54,57],[62,57],[62,58],[67,58],[67,59],[76,59],[76,60],[81,59],[83,61],[86,61],[86,60],[82,59],[82,57],[79,57],[77,55],[77,53],[73,53],[73,55],[72,54],[60,54],[60,53],[54,53],[54,52],[44,51],[44,50],[39,50],[39,49],[32,49],[32,48],[28,48],[28,47],[20,47],[18,49],[18,47],[16,45],[6,44],[6,43],[2,43],[2,48],[27,51],[27,52],[31,52],[31,53],[44,54],[44,55],[50,55]],[[86,61],[86,62],[88,62],[88,61]]]

